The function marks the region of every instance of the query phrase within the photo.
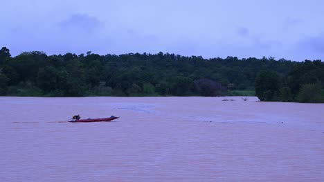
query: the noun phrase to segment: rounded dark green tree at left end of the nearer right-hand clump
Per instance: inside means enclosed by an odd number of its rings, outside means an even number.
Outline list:
[[[280,87],[280,77],[273,71],[262,71],[255,79],[255,94],[260,101],[278,101]]]

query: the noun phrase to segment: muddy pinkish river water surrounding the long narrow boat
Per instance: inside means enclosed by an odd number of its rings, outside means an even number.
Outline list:
[[[324,181],[323,104],[222,99],[0,97],[0,181]]]

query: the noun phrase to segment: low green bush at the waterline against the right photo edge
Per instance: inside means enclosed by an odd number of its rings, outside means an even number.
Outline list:
[[[297,101],[303,103],[321,103],[324,101],[322,96],[322,84],[309,83],[302,85],[298,93]]]

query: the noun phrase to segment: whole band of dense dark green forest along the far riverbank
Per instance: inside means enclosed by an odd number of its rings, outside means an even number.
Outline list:
[[[324,63],[177,54],[48,56],[0,50],[3,96],[205,96],[254,91],[261,101],[323,102]],[[239,91],[237,91],[239,90]]]

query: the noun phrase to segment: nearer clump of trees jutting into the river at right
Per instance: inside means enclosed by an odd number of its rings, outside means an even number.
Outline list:
[[[305,60],[294,65],[288,74],[273,70],[260,72],[255,93],[260,101],[324,102],[324,63]]]

